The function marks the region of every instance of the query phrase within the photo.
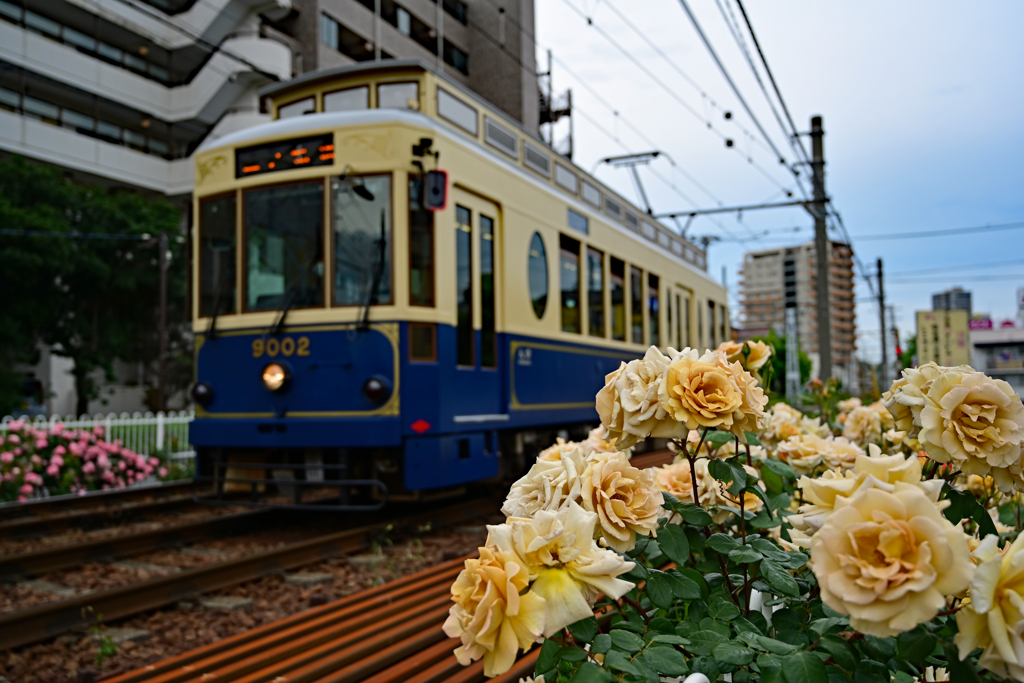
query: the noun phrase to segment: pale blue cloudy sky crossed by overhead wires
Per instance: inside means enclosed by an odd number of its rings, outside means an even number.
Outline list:
[[[688,2],[743,98],[793,161],[730,33],[727,20],[742,26],[735,0]],[[538,62],[543,70],[552,49],[556,92],[572,88],[574,159],[585,169],[653,142],[677,164],[657,160],[640,171],[655,213],[783,201],[782,189],[794,189],[678,0],[536,6]],[[858,238],[1024,221],[1024,3],[746,0],[744,8],[798,129],[807,131],[812,115],[824,117],[827,193],[864,266],[873,273],[876,259],[884,259],[901,336],[913,333],[913,311],[930,308],[933,292],[957,285],[973,292],[975,312],[991,313],[996,324],[1016,316],[1024,229]],[[723,136],[735,141],[731,150]],[[637,198],[628,171],[602,166],[596,175]],[[798,207],[745,212],[741,221],[735,214],[697,218],[689,233],[723,238],[710,248],[709,272],[720,279],[725,267],[736,310],[743,253],[806,242],[811,226]],[[879,313],[862,280],[857,296],[860,354],[877,359]]]

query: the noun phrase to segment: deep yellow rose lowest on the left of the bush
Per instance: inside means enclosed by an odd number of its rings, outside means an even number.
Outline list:
[[[455,650],[459,664],[483,657],[483,675],[498,676],[512,668],[517,650],[534,644],[544,632],[545,600],[528,585],[524,562],[514,552],[480,548],[479,559],[466,560],[444,622],[444,633],[462,640]]]

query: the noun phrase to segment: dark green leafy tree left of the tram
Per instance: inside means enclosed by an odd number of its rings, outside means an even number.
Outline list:
[[[96,371],[113,379],[115,359],[156,359],[161,231],[171,237],[169,311],[183,319],[179,216],[163,199],[77,185],[58,169],[0,160],[0,224],[44,233],[0,236],[0,288],[10,303],[0,312],[0,407],[17,380],[11,367],[31,361],[40,342],[72,359],[79,414],[98,396]]]

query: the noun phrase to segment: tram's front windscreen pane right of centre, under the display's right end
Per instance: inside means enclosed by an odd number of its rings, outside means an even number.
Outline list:
[[[331,189],[334,305],[391,303],[391,176],[334,178]]]

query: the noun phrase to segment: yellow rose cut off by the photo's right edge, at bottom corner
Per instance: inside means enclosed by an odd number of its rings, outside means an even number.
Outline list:
[[[956,612],[953,642],[962,659],[983,648],[980,666],[1024,681],[1024,533],[1001,551],[997,544],[988,536],[974,551],[980,563],[971,598]]]

